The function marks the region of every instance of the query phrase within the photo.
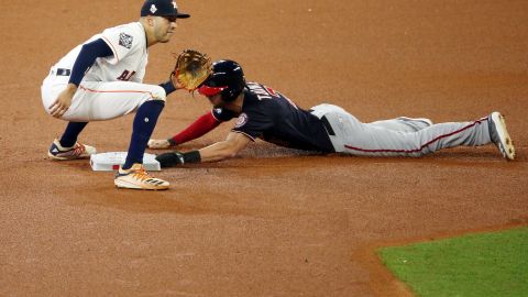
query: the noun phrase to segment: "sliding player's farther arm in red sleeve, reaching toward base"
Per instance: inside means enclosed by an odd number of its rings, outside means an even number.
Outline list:
[[[206,114],[198,118],[194,123],[187,127],[182,132],[177,133],[176,135],[166,139],[166,140],[150,140],[148,141],[148,148],[153,150],[164,150],[174,147],[178,144],[186,143],[191,140],[196,140],[209,131],[213,130],[220,124],[213,116],[212,112],[207,112]]]

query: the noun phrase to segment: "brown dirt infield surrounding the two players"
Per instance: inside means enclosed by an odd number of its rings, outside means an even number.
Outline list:
[[[408,296],[373,256],[384,244],[528,224],[528,1],[186,1],[172,52],[240,62],[309,108],[363,121],[507,117],[518,160],[492,145],[424,158],[314,156],[257,142],[235,158],[167,169],[168,191],[118,190],[87,161],[52,162],[65,122],[44,112],[50,67],[134,1],[2,2],[0,296]],[[155,138],[209,110],[170,95]],[[125,151],[133,117],[80,141]],[[184,148],[221,140],[223,124]]]

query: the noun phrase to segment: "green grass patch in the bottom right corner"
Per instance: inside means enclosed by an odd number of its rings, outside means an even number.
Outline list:
[[[416,296],[528,296],[528,228],[376,251]]]

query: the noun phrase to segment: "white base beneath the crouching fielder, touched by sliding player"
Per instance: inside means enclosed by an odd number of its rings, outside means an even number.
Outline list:
[[[162,167],[155,160],[156,155],[145,153],[143,155],[143,167],[150,172],[160,172]],[[111,172],[119,169],[124,164],[127,152],[108,152],[90,156],[90,165],[95,172]]]

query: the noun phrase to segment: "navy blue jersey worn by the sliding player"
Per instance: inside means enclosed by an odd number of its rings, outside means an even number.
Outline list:
[[[249,82],[244,90],[242,112],[217,108],[219,121],[239,118],[232,131],[251,140],[257,138],[280,146],[333,153],[323,123],[316,116],[298,108],[292,100],[261,84]]]

